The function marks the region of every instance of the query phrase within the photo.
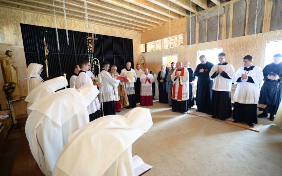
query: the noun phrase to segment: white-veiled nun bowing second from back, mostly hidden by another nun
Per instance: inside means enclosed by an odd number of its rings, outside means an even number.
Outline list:
[[[65,85],[68,85],[67,80],[63,76],[49,79],[41,84],[37,85],[26,97],[25,102],[27,104],[27,114],[31,113],[29,107],[38,100],[48,97],[55,93],[55,91],[62,89]]]

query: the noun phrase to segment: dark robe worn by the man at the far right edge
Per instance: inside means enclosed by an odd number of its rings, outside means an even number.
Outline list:
[[[282,100],[282,79],[270,80],[267,78],[268,74],[277,74],[282,77],[282,62],[279,64],[271,63],[266,65],[263,70],[264,83],[260,90],[259,104],[267,105],[266,109],[263,110],[265,113],[275,115],[278,106]]]

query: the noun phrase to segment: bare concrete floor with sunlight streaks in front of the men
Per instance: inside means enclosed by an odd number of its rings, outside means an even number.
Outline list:
[[[257,133],[167,104],[148,108],[154,125],[132,147],[154,166],[145,175],[282,175],[282,130],[269,119],[259,119]]]

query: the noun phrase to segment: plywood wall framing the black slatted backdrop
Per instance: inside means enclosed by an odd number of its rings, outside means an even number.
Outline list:
[[[19,71],[21,73],[21,95],[26,96],[27,87],[25,77],[27,71],[20,23],[54,28],[54,18],[53,16],[49,15],[32,13],[23,10],[8,9],[4,7],[0,7],[0,17],[0,58],[5,56],[5,50],[9,49],[13,51],[16,65],[18,65]],[[87,32],[84,17],[82,17],[81,21],[68,19],[67,24],[69,30]],[[64,29],[63,18],[57,17],[57,27]],[[140,33],[91,23],[89,24],[89,32],[132,39],[133,59],[134,63],[137,62],[141,53]],[[0,75],[0,77],[2,76],[3,75]],[[0,87],[2,86],[3,81],[0,79]],[[1,99],[5,99],[5,96],[3,98],[2,93]]]

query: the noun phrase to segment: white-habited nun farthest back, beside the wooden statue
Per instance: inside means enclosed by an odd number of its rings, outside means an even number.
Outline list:
[[[38,63],[30,63],[27,67],[27,93],[29,94],[34,87],[39,85],[44,80],[40,76],[43,70],[43,65]]]

